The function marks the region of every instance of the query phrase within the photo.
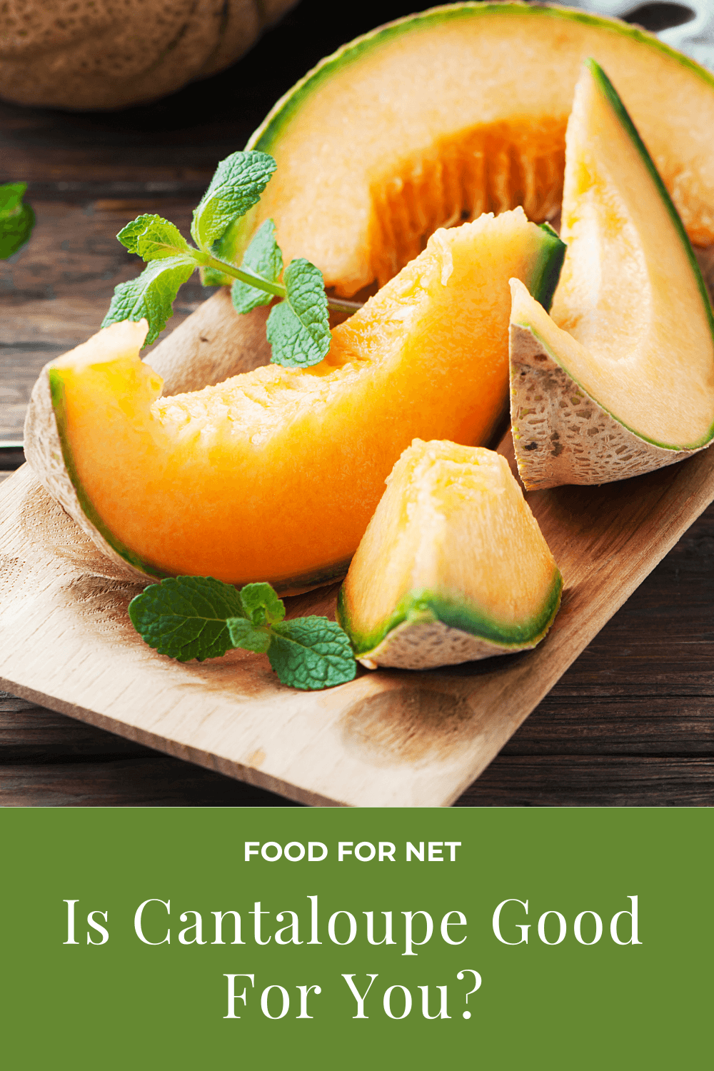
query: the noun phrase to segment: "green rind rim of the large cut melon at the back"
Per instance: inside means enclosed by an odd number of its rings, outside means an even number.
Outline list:
[[[677,51],[670,45],[665,44],[647,30],[641,30],[637,26],[622,22],[616,18],[605,18],[601,15],[592,15],[588,12],[577,11],[568,7],[550,7],[547,4],[526,4],[526,3],[457,3],[447,4],[443,7],[431,7],[428,11],[420,12],[415,15],[407,15],[394,22],[377,27],[369,33],[355,37],[354,41],[343,45],[337,51],[324,59],[308,71],[307,74],[295,82],[295,85],[285,93],[279,101],[271,108],[258,129],[250,135],[246,142],[247,149],[257,149],[260,152],[270,153],[277,141],[280,133],[290,122],[295,112],[300,109],[305,99],[331,77],[335,71],[347,63],[353,63],[361,59],[365,52],[373,47],[381,45],[402,33],[412,30],[428,30],[441,22],[447,22],[458,18],[472,18],[476,16],[486,17],[488,15],[505,15],[512,17],[532,18],[560,18],[568,21],[582,22],[586,26],[607,30],[611,33],[619,33],[633,41],[649,45],[656,50],[664,52],[669,58],[677,60],[704,81],[714,90],[714,75],[700,66],[695,60],[689,59],[682,52]],[[252,209],[241,220],[238,220],[215,245],[216,255],[223,260],[237,262],[245,245],[253,233],[253,218],[256,210]],[[229,286],[232,282],[227,275],[211,269],[203,270],[206,286]]]

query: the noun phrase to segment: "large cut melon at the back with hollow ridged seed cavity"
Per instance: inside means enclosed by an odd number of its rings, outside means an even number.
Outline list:
[[[582,61],[610,72],[694,242],[714,242],[714,76],[613,19],[541,4],[464,3],[381,27],[322,60],[247,148],[277,171],[222,253],[272,217],[349,297],[383,285],[441,226],[560,203]],[[212,282],[229,283],[218,276]]]

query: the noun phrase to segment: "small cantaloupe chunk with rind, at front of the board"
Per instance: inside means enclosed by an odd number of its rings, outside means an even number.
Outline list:
[[[415,439],[352,559],[337,620],[368,668],[429,669],[535,647],[562,587],[506,459]]]

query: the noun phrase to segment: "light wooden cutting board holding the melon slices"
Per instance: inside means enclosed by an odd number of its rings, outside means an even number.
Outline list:
[[[214,298],[179,328],[174,365],[181,346],[215,343],[224,319]],[[428,673],[361,669],[302,693],[264,655],[181,665],[147,647],[126,616],[141,586],[26,465],[0,486],[0,688],[301,802],[449,805],[713,499],[714,450],[623,483],[529,494],[565,578],[540,647]],[[332,617],[336,593],[288,599],[288,616]]]

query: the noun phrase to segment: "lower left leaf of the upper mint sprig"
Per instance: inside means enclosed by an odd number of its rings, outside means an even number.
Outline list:
[[[115,288],[115,296],[102,327],[108,328],[110,323],[120,320],[147,319],[149,334],[145,346],[149,346],[164,330],[166,321],[173,316],[172,305],[179,287],[191,278],[196,267],[195,259],[188,255],[152,260],[138,278],[120,283]]]

